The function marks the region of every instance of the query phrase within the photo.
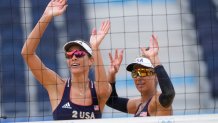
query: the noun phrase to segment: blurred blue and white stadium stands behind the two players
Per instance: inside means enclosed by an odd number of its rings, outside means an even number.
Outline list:
[[[52,120],[47,92],[20,55],[48,2],[0,1],[1,122]],[[147,47],[155,33],[160,60],[176,91],[173,115],[218,113],[218,0],[68,0],[67,11],[50,23],[37,53],[49,68],[67,78],[63,45],[76,39],[89,41],[91,29],[106,19],[111,21],[101,45],[106,69],[108,53],[124,49],[117,75],[120,96],[140,96],[125,67],[140,56],[139,48]],[[94,79],[92,72],[90,77]],[[132,115],[106,107],[103,117]]]

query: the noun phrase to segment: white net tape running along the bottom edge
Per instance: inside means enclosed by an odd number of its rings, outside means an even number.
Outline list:
[[[69,121],[44,121],[44,123],[216,123],[218,114],[210,115],[180,115],[180,116],[158,116],[158,117],[137,117],[137,118],[108,118],[92,120],[69,120]],[[41,123],[42,121],[40,121]],[[25,123],[25,122],[23,122]],[[38,123],[38,122],[32,122]]]

